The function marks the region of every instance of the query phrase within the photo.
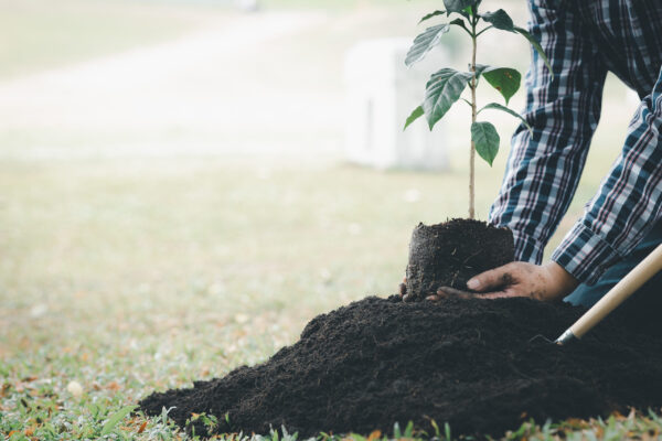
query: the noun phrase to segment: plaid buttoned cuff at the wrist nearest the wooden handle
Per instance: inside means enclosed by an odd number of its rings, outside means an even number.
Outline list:
[[[587,284],[597,282],[619,259],[620,255],[611,245],[581,222],[575,225],[552,255],[552,260]]]

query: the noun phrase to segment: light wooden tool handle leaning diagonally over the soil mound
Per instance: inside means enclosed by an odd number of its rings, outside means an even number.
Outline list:
[[[662,270],[662,245],[643,259],[628,276],[616,284],[599,302],[581,316],[570,331],[577,338],[581,338],[595,325],[600,323],[611,311],[617,309],[639,288]]]

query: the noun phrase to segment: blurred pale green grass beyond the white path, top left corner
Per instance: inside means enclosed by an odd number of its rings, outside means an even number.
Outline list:
[[[0,0],[0,80],[177,37],[222,12],[128,0]]]

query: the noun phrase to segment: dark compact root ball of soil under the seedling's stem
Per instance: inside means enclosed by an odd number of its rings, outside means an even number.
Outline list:
[[[424,300],[441,287],[467,289],[467,281],[514,259],[513,234],[480,220],[419,224],[409,243],[407,294]]]

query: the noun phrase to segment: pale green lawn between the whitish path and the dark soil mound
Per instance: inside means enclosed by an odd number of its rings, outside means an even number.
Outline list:
[[[462,215],[462,195],[440,191],[462,178],[238,159],[3,163],[0,432],[97,439],[153,389],[264,361],[317,313],[394,292],[412,227]],[[615,417],[532,439],[660,429]],[[108,431],[186,439],[167,419]]]

